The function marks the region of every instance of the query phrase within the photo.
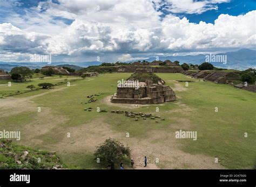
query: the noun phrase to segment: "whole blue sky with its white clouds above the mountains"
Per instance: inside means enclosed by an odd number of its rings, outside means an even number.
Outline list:
[[[256,0],[0,0],[0,62],[116,62],[256,49]]]

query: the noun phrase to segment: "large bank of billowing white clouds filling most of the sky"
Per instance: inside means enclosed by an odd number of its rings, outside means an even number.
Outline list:
[[[256,11],[240,16],[220,15],[214,24],[203,21],[195,24],[174,15],[160,19],[161,13],[147,0],[59,2],[41,2],[44,11],[34,7],[25,10],[23,17],[14,14],[8,18],[10,23],[0,24],[0,50],[86,56],[87,59],[113,54],[119,61],[129,61],[139,54],[256,46]],[[227,1],[168,2],[173,12],[200,13]],[[56,15],[74,21],[66,25],[53,20]]]

